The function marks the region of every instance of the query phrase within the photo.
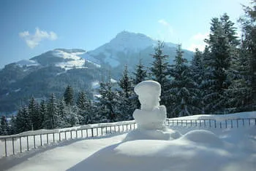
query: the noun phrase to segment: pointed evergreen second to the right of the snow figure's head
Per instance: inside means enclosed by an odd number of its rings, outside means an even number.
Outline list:
[[[176,50],[175,64],[171,65],[170,76],[170,98],[172,100],[173,117],[188,116],[199,114],[200,109],[197,108],[197,84],[192,79],[192,73],[187,65],[187,59],[183,57],[181,44],[178,44]]]

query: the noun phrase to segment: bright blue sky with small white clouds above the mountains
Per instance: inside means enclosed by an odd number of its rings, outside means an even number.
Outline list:
[[[121,31],[203,47],[212,17],[249,0],[1,0],[0,68],[50,49],[95,49]],[[238,25],[237,25],[238,26]]]

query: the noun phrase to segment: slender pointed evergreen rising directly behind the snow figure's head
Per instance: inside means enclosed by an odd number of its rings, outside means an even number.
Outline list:
[[[157,47],[154,49],[154,55],[152,57],[154,58],[154,61],[151,65],[151,75],[152,79],[154,81],[159,82],[161,84],[161,104],[165,105],[167,108],[167,114],[170,113],[170,105],[168,104],[169,96],[167,95],[167,91],[169,90],[169,82],[168,79],[169,73],[168,73],[168,63],[167,63],[167,57],[168,55],[163,55],[162,49],[164,47],[163,42],[158,42]]]

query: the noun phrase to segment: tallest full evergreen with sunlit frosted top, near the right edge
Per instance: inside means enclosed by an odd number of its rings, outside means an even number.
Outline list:
[[[206,59],[205,80],[203,87],[206,95],[203,100],[206,113],[225,112],[227,104],[227,88],[231,84],[229,70],[233,58],[233,49],[236,49],[236,33],[227,15],[211,20],[211,33],[206,39],[210,54]]]

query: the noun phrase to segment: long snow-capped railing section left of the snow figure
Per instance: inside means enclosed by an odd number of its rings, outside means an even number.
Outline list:
[[[35,130],[16,135],[0,136],[0,158],[30,151],[40,146],[48,146],[63,140],[94,138],[118,132],[127,132],[137,127],[135,121],[87,124],[55,130]]]

